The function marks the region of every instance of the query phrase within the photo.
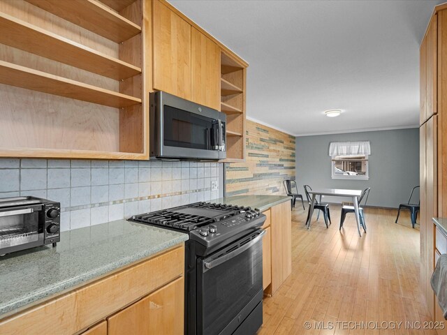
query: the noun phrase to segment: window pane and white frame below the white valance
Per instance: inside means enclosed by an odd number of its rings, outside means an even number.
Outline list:
[[[368,179],[368,156],[332,157],[332,179]]]

